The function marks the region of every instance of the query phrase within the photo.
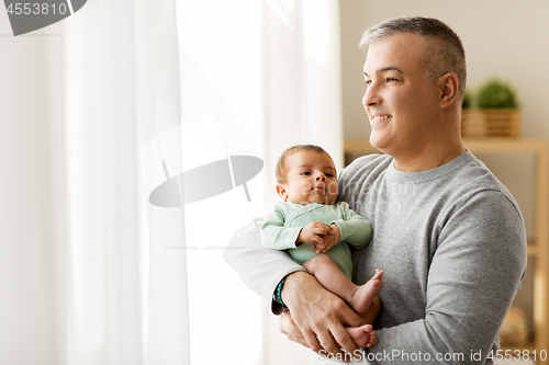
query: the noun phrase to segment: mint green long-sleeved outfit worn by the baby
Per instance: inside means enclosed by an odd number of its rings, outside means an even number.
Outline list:
[[[295,246],[301,229],[311,221],[322,221],[326,225],[336,224],[339,227],[340,241],[328,252],[321,254],[329,255],[338,264],[341,272],[351,280],[352,261],[348,244],[355,249],[368,246],[372,237],[372,229],[368,220],[351,210],[347,203],[300,205],[279,202],[264,220],[261,242],[269,249],[287,250],[296,263],[302,264],[317,254],[311,248],[311,242],[302,243],[300,247]]]

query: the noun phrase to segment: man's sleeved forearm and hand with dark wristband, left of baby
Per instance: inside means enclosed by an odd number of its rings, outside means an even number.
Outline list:
[[[224,252],[225,261],[249,288],[271,304],[274,313],[283,311],[282,306],[272,301],[272,294],[285,276],[282,299],[298,327],[306,333],[310,346],[320,351],[322,345],[336,354],[340,353],[337,341],[347,352],[354,352],[357,347],[341,323],[360,326],[363,320],[285,252],[264,248],[261,223],[261,219],[254,219],[233,236]]]

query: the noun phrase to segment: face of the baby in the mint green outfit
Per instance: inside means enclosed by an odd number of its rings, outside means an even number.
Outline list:
[[[301,205],[336,201],[336,168],[327,153],[298,151],[285,158],[284,167],[285,182],[277,186],[284,201]]]

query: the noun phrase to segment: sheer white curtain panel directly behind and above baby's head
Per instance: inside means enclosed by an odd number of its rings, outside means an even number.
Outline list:
[[[274,204],[273,171],[280,152],[314,144],[343,160],[339,3],[335,0],[264,0],[264,146]],[[269,204],[269,205],[270,205]],[[325,364],[281,335],[264,312],[262,364]]]

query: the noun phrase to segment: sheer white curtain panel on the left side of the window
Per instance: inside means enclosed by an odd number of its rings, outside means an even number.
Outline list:
[[[96,0],[63,23],[61,364],[189,364],[182,208],[148,204],[147,144],[180,124],[175,0]],[[177,136],[160,140],[182,171]]]

